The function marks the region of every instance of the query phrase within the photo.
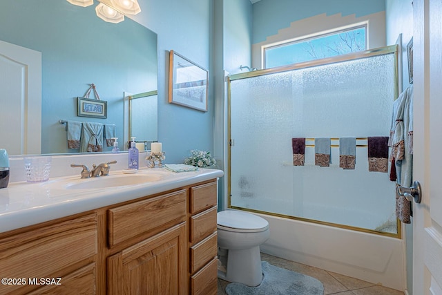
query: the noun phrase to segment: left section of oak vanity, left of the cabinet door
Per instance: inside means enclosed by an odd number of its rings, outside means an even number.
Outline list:
[[[0,235],[0,294],[95,294],[97,230],[91,213]]]

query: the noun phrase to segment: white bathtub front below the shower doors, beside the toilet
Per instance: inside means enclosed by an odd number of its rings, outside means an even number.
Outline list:
[[[266,254],[403,291],[405,241],[312,222],[269,216]]]

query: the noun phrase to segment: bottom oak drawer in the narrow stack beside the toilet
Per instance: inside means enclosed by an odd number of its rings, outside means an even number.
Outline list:
[[[200,272],[191,276],[191,294],[218,294],[218,259],[213,258]]]

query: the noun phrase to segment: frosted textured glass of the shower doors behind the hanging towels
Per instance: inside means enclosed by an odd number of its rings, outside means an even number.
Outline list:
[[[394,182],[368,171],[366,147],[354,170],[337,147],[329,167],[308,146],[293,166],[291,149],[292,137],[388,136],[395,85],[394,53],[231,81],[231,206],[396,233]]]

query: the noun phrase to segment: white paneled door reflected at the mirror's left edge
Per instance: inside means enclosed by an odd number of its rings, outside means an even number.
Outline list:
[[[0,90],[0,148],[41,153],[41,53],[0,41]]]

